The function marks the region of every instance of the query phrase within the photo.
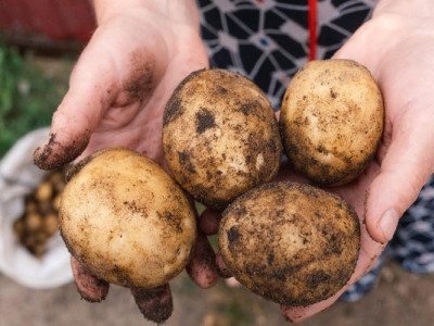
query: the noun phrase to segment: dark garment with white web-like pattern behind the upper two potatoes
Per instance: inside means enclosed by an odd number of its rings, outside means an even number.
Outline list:
[[[330,58],[372,13],[373,0],[317,1],[317,59]],[[254,80],[278,109],[306,63],[308,0],[197,0],[210,66]]]

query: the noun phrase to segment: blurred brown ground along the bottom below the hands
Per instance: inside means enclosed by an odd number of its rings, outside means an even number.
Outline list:
[[[186,274],[171,283],[174,314],[167,326],[290,325],[277,304],[220,281],[201,290]],[[125,288],[112,286],[102,303],[80,300],[74,284],[34,290],[0,275],[0,326],[156,325],[143,319]],[[303,326],[426,326],[434,319],[434,274],[417,276],[387,262],[376,287],[355,303],[337,302]]]

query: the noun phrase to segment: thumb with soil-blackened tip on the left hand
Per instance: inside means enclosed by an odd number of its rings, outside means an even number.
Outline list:
[[[84,51],[69,78],[69,89],[55,111],[48,139],[35,151],[34,162],[53,170],[76,159],[87,147],[92,131],[108,106],[105,84],[111,66],[98,50]]]

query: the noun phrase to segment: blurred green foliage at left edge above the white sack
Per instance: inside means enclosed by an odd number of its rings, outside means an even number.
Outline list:
[[[66,91],[0,40],[0,158],[28,131],[49,126]]]

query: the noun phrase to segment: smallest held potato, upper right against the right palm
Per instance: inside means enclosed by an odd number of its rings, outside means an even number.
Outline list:
[[[354,61],[307,63],[283,97],[284,151],[298,172],[319,185],[355,179],[374,158],[383,125],[380,89]]]

